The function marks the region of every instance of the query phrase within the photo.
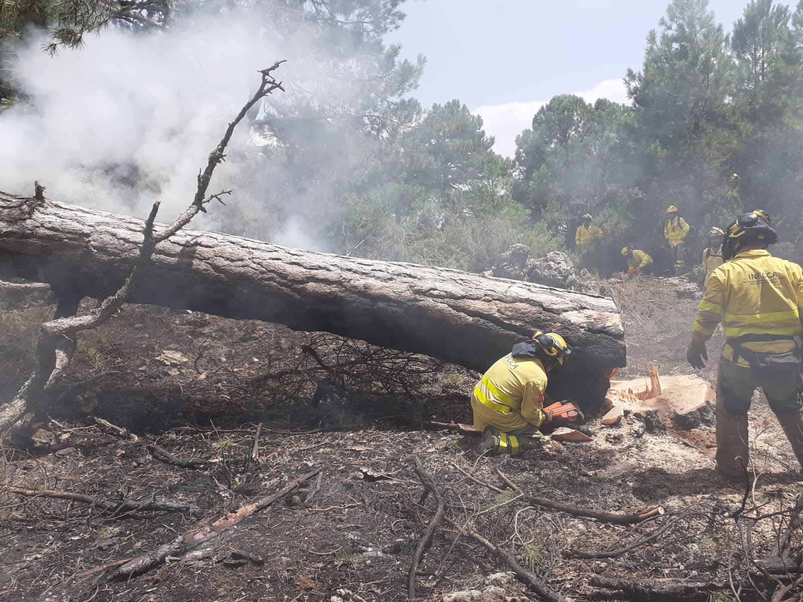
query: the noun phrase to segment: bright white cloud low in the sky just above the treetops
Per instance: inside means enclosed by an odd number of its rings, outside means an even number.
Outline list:
[[[605,79],[589,90],[572,94],[589,103],[598,98],[607,98],[616,103],[628,101],[622,79]],[[483,105],[472,112],[482,116],[485,132],[496,138],[494,150],[505,157],[513,157],[516,153],[516,136],[532,125],[532,116],[547,102],[548,100],[529,100],[522,103]]]

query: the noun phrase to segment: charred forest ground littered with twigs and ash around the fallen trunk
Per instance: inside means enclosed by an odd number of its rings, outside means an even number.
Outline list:
[[[659,279],[607,286],[626,324],[630,365],[622,376],[646,374],[650,360],[664,374],[691,373],[685,347],[698,302],[676,299],[675,286]],[[51,311],[0,312],[2,396],[26,377],[31,332]],[[719,343],[709,344],[711,358]],[[709,380],[712,364],[703,372]],[[676,600],[731,600],[731,584],[740,600],[764,600],[778,587],[774,580],[789,583],[750,561],[771,555],[801,491],[791,450],[760,397],[751,418],[759,477],[734,484],[713,470],[707,426],[682,431],[658,420],[646,430],[633,415],[613,426],[589,417],[593,441],[551,444],[524,458],[481,457],[457,433],[416,426],[422,418],[470,423],[467,397],[477,376],[336,336],[125,306],[80,336],[31,439],[2,449],[0,599],[406,600],[412,557],[435,508],[434,496],[422,500],[416,458],[442,491],[448,518],[573,600],[645,599],[601,589],[593,581],[600,576],[707,584]],[[317,397],[324,399],[316,405]],[[174,466],[149,445],[206,462]],[[201,554],[116,578],[120,561],[316,468],[320,478],[202,543]],[[662,506],[665,513],[630,526],[574,517],[528,504],[504,489],[497,470],[526,493],[557,502],[615,512]],[[74,492],[96,503],[11,487]],[[192,508],[119,507],[153,499]],[[744,518],[758,515],[769,516]],[[800,531],[792,541],[794,558]],[[638,545],[622,551],[631,544]],[[583,551],[601,557],[577,557]],[[422,555],[416,596],[441,600],[505,570],[442,520]],[[538,599],[518,581],[503,588]]]

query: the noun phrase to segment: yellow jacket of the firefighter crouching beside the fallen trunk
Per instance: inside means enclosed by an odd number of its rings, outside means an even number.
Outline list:
[[[544,422],[544,391],[547,373],[544,364],[532,357],[513,357],[511,353],[488,368],[471,394],[474,427],[492,426],[509,433]]]

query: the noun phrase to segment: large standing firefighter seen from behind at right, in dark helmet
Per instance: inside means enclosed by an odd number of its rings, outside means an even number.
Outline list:
[[[705,342],[722,321],[725,345],[716,383],[716,467],[743,479],[749,460],[748,409],[760,387],[803,466],[801,319],[803,273],[772,257],[778,241],[765,212],[742,214],[725,230],[725,263],[707,280],[687,360],[703,368]]]

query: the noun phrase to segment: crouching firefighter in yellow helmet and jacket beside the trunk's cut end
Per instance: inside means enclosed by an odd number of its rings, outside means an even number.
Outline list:
[[[536,332],[488,368],[471,394],[474,427],[484,431],[480,453],[516,456],[543,444],[538,427],[552,418],[544,410],[547,374],[570,353],[562,336]]]

